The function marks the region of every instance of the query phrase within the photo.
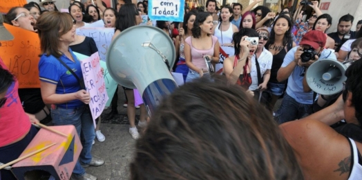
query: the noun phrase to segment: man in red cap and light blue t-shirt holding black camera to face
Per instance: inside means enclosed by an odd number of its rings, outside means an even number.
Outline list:
[[[327,37],[323,32],[311,30],[304,35],[300,46],[292,48],[285,56],[276,77],[278,81],[288,79],[287,91],[276,112],[278,123],[300,119],[312,105],[313,92],[307,92],[309,87],[303,83],[303,79],[307,68],[318,59],[336,60],[332,51],[323,49],[326,41]]]

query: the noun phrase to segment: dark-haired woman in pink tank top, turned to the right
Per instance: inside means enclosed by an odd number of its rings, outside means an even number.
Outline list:
[[[190,68],[186,82],[209,74],[204,57],[209,57],[212,63],[218,63],[220,46],[218,38],[211,35],[213,19],[209,12],[199,12],[196,15],[192,37],[187,37],[184,44],[186,65]]]

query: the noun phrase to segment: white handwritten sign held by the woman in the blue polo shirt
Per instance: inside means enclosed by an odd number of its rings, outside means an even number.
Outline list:
[[[94,126],[96,126],[95,119],[102,114],[108,101],[98,52],[95,52],[89,58],[83,59],[81,66],[86,91],[90,94],[90,112],[92,113]]]

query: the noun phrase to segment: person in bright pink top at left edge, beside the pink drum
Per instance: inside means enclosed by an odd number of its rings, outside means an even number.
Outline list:
[[[39,123],[34,115],[26,114],[18,95],[19,82],[0,58],[0,162],[17,159],[26,149]],[[30,121],[29,121],[30,120]],[[0,179],[16,180],[10,170],[1,169]]]

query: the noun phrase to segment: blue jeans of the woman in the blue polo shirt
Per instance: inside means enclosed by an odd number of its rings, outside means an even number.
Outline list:
[[[93,125],[92,115],[89,110],[86,110],[86,106],[79,106],[75,109],[64,109],[64,108],[55,108],[51,110],[52,119],[55,126],[61,125],[73,125],[77,130],[79,139],[82,142],[82,152],[79,156],[79,161],[75,164],[73,173],[76,176],[82,176],[86,173],[86,170],[80,165],[79,162],[84,164],[90,163],[92,160],[92,154],[90,151],[93,146],[93,139],[95,139],[95,128]]]

